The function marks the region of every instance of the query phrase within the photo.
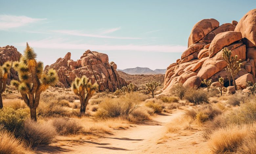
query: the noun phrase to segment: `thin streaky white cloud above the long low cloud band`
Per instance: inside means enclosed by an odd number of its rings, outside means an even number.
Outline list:
[[[109,30],[110,31],[116,31],[116,29]],[[53,30],[52,32],[65,34],[65,35],[75,35],[75,36],[85,36],[85,37],[96,37],[96,38],[112,38],[112,39],[142,39],[139,37],[118,37],[118,36],[106,36],[106,35],[100,35],[100,34],[89,34],[89,33],[83,33],[82,31],[78,30]],[[105,33],[106,34],[106,33]]]

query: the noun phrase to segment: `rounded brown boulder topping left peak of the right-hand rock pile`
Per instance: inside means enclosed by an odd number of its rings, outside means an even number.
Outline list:
[[[203,19],[197,22],[188,38],[188,47],[199,42],[205,35],[219,27],[219,25],[220,23],[215,19]]]

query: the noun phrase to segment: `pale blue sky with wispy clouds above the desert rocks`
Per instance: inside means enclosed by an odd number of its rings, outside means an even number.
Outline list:
[[[71,52],[106,53],[118,69],[163,69],[181,57],[202,19],[239,21],[253,0],[0,0],[0,47],[21,53],[26,42],[45,65]]]

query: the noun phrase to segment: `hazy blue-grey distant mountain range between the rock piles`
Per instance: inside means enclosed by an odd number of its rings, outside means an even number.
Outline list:
[[[155,69],[152,70],[148,67],[136,67],[136,68],[126,68],[126,69],[117,69],[123,71],[127,74],[165,74],[166,69]]]

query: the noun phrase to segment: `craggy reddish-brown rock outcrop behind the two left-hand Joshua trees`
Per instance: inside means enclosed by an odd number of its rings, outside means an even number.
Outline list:
[[[108,61],[108,55],[96,51],[87,50],[77,61],[71,60],[68,52],[64,58],[45,67],[45,71],[53,68],[57,70],[59,86],[70,87],[76,77],[87,76],[93,83],[97,82],[99,90],[109,89],[111,92],[127,86],[125,80],[117,73],[117,64]]]

